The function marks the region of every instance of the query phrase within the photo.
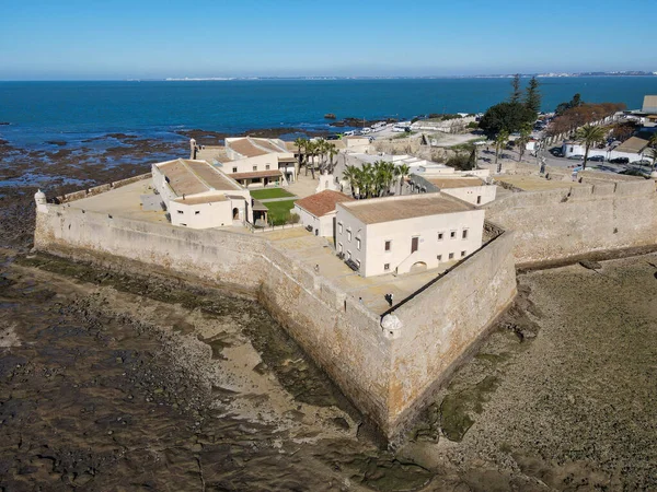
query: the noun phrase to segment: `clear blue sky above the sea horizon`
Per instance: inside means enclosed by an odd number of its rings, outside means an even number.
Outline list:
[[[0,80],[657,70],[631,3],[2,0]]]

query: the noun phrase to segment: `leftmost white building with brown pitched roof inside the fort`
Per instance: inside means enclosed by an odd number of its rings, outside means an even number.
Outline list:
[[[249,190],[206,161],[153,164],[152,175],[173,225],[208,229],[253,222]]]

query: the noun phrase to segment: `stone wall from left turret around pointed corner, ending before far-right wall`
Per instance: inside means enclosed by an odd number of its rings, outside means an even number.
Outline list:
[[[393,436],[516,293],[503,234],[381,317],[260,235],[140,222],[67,204],[37,213],[35,247],[257,293],[356,407]],[[128,268],[128,266],[126,266]]]

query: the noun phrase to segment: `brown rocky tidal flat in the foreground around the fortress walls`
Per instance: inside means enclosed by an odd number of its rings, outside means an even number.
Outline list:
[[[387,449],[254,301],[5,251],[0,487],[655,490],[657,255],[519,291]]]

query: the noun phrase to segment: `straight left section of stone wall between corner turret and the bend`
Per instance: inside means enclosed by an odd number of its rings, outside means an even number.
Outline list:
[[[255,291],[265,243],[251,235],[134,221],[64,206],[37,213],[35,247],[74,259],[89,253],[141,261],[159,269]]]

